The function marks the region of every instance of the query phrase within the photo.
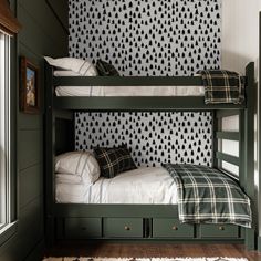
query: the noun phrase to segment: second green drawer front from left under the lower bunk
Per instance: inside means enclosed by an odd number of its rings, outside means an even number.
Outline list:
[[[104,218],[104,237],[143,238],[142,218]]]

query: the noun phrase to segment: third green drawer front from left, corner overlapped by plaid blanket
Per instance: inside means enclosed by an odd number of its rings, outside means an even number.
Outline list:
[[[154,238],[194,238],[194,225],[181,225],[178,219],[153,219]]]

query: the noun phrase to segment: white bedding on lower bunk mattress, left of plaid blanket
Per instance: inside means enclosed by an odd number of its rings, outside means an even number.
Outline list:
[[[60,174],[56,176],[56,202],[176,205],[177,186],[161,167],[138,168],[112,179],[101,177],[91,186],[76,179],[63,179]]]

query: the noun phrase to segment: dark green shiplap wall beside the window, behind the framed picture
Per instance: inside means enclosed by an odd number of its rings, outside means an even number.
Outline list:
[[[55,0],[56,10],[67,10],[66,0]],[[12,0],[11,7],[22,24],[18,36],[18,59],[27,56],[40,67],[41,112],[18,112],[18,232],[0,248],[1,261],[36,261],[44,247],[43,170],[43,55],[67,55],[67,34],[45,0]],[[13,86],[17,87],[18,86]]]

